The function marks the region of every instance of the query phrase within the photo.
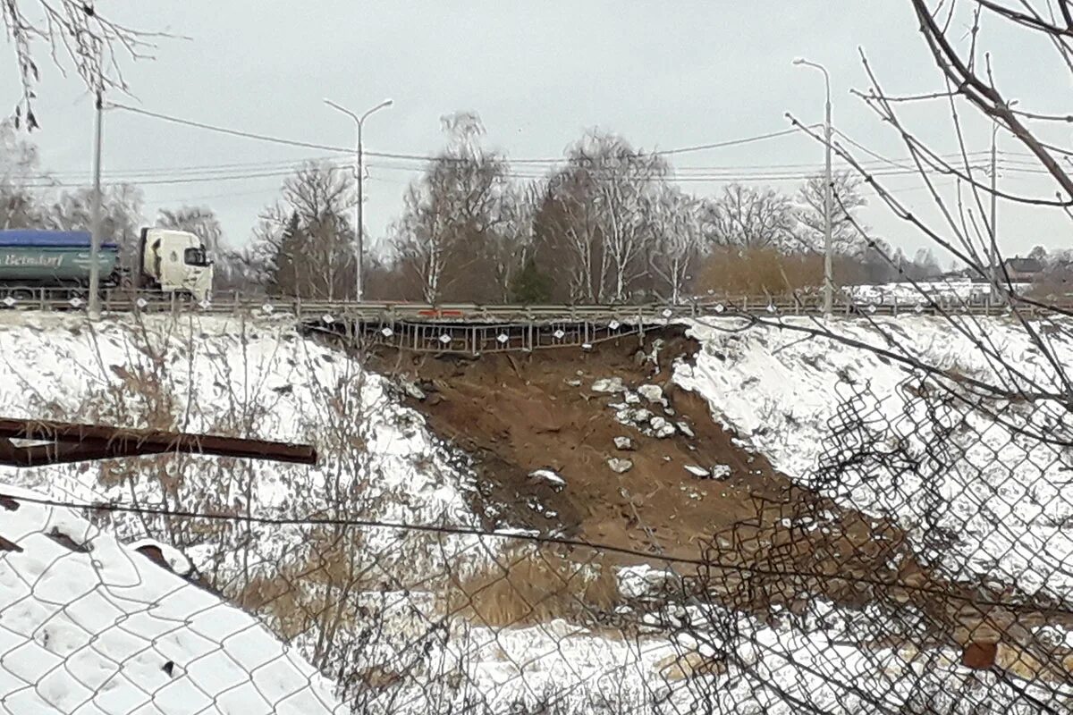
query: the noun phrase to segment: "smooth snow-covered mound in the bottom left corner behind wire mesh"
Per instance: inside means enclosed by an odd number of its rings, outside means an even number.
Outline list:
[[[0,710],[347,712],[252,616],[0,483]]]

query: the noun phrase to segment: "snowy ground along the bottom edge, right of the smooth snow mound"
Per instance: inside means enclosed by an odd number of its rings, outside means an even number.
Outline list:
[[[712,607],[643,615],[629,636],[558,620],[462,627],[432,649],[429,659],[445,665],[436,677],[363,704],[370,713],[1021,715],[1048,712],[1026,695],[1057,710],[1073,703],[1068,684],[1004,682],[960,666],[954,650],[855,646],[847,631],[859,617],[818,601],[805,627]]]

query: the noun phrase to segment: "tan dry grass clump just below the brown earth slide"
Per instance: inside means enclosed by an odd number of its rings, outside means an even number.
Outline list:
[[[584,620],[611,611],[619,600],[614,570],[552,552],[518,549],[498,564],[458,580],[451,612],[495,627]]]

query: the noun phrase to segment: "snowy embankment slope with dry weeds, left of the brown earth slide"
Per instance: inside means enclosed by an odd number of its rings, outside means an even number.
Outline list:
[[[315,466],[164,455],[0,467],[0,480],[57,498],[269,518],[475,523],[458,456],[400,404],[386,378],[303,338],[285,318],[119,316],[90,324],[75,315],[0,314],[0,416],[294,441],[320,455]],[[253,576],[289,579],[282,568],[320,560],[319,545],[328,538],[306,526],[158,518],[147,533],[136,515],[111,520],[120,538],[174,543],[202,574],[217,582],[241,574],[232,582],[254,590]],[[459,538],[446,551],[407,553],[406,543],[425,537],[389,528],[353,528],[348,538],[361,539],[362,550],[343,553],[393,568],[410,569],[415,556],[442,565],[455,547],[465,548]]]

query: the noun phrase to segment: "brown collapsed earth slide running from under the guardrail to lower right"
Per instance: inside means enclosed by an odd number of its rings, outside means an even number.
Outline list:
[[[661,556],[703,560],[711,566],[674,568],[710,597],[762,617],[804,613],[823,596],[923,612],[939,627],[917,632],[921,645],[965,645],[983,627],[1031,640],[1026,634],[1045,619],[1046,605],[937,576],[896,525],[796,487],[735,444],[702,398],[671,382],[674,360],[696,348],[684,331],[667,328],[644,343],[623,338],[592,351],[475,359],[382,351],[371,361],[416,384],[425,397],[412,406],[473,458],[481,487],[473,507],[489,526],[641,551],[657,567]],[[623,389],[606,391],[616,378]],[[645,413],[640,420],[637,411]],[[628,460],[629,468],[619,473],[612,460]],[[533,476],[540,470],[555,476]],[[868,639],[880,645],[911,629]]]

